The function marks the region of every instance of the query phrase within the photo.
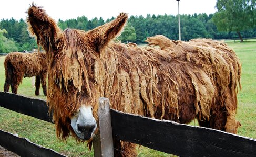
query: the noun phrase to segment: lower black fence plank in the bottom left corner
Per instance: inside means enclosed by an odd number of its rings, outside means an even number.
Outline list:
[[[64,156],[52,149],[44,148],[25,138],[16,137],[12,133],[0,130],[0,145],[19,156]]]

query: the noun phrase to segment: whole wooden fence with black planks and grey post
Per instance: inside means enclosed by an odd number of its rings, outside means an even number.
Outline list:
[[[255,139],[168,120],[126,114],[113,109],[109,111],[108,100],[103,98],[100,102],[100,131],[97,136],[99,139],[94,141],[95,156],[112,155],[112,137],[178,156],[256,156]],[[44,100],[0,92],[0,106],[37,119],[52,121]],[[24,155],[26,151],[26,154],[42,152],[41,154],[44,155],[41,156],[62,156],[49,149],[33,149],[34,152],[32,152],[27,145],[24,147],[22,141],[15,142],[15,146],[10,146],[11,139],[3,139],[6,136],[1,134],[0,132],[0,145],[18,155],[29,156]],[[9,144],[6,146],[5,143]],[[21,147],[23,152],[11,149],[13,147]],[[49,155],[49,152],[52,154]]]

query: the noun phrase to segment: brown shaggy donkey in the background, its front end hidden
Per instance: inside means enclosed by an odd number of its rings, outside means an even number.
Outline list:
[[[39,95],[40,83],[42,84],[43,93],[46,96],[46,76],[47,61],[46,53],[21,53],[11,52],[6,55],[4,60],[5,84],[4,91],[8,92],[11,86],[12,93],[17,94],[19,84],[22,83],[23,77],[36,76],[35,95]]]

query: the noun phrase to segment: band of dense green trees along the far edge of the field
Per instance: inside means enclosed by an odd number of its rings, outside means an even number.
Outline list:
[[[236,6],[235,9],[234,6]],[[180,15],[181,40],[240,38],[243,41],[243,38],[256,37],[254,0],[218,0],[216,7],[218,12],[214,14]],[[59,19],[57,23],[63,30],[73,28],[88,31],[108,23],[112,19],[114,17],[106,21],[101,17],[89,20],[87,17],[81,16],[65,21]],[[167,14],[148,14],[146,17],[130,16],[118,40],[140,44],[145,43],[147,37],[155,35],[178,40],[178,16]],[[29,36],[24,19],[11,18],[0,21],[0,53],[31,51],[34,48],[37,48],[36,41]]]

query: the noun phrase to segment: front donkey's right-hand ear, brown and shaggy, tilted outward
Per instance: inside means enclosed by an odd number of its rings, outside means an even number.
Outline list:
[[[89,40],[94,44],[96,51],[99,52],[109,41],[121,34],[127,19],[128,14],[120,13],[116,19],[88,32]]]

